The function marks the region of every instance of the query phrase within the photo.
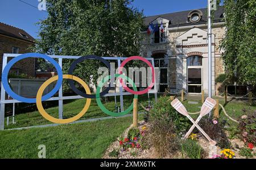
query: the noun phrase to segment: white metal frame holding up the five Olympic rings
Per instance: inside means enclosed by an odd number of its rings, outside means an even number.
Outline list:
[[[5,53],[3,54],[3,67],[2,67],[2,73],[3,73],[3,69],[5,69],[6,64],[7,64],[7,58],[8,57],[17,57],[20,54],[12,54],[12,53]],[[59,60],[59,65],[62,68],[62,61],[63,59],[78,59],[81,56],[56,56],[56,55],[52,55],[49,56],[52,57],[53,59],[58,59]],[[117,60],[118,61],[118,67],[120,67],[121,65],[121,61],[127,59],[127,57],[103,57],[105,60]],[[149,61],[151,61],[152,66],[155,67],[154,64],[154,59],[153,58],[145,58]],[[154,93],[155,94],[155,101],[157,101],[157,90],[156,90],[156,78],[155,78],[155,85],[154,85],[154,89],[150,90],[148,93]],[[108,96],[120,96],[120,104],[121,104],[121,111],[123,111],[123,96],[127,96],[127,95],[133,95],[129,92],[122,92],[122,85],[119,86],[119,93],[108,93],[105,94],[104,97],[108,97]],[[2,85],[2,81],[1,81],[1,101],[0,101],[0,130],[4,130],[5,128],[5,104],[7,103],[20,103],[20,101],[16,100],[16,99],[5,99],[6,96],[6,91],[3,88]],[[81,96],[63,96],[63,90],[62,90],[62,86],[60,87],[59,90],[59,97],[51,97],[49,99],[47,99],[47,101],[59,101],[59,119],[63,118],[63,100],[65,99],[81,99],[84,97]]]

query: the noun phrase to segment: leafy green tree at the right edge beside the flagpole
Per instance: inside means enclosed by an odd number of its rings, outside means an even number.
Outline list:
[[[256,85],[256,1],[225,0],[223,60],[227,76],[243,85]],[[234,78],[233,78],[234,77]]]

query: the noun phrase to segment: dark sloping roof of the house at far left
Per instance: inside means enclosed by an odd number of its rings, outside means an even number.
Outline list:
[[[27,42],[35,43],[35,39],[32,38],[26,31],[10,26],[8,24],[0,22],[0,35],[6,35],[20,40],[25,40]]]

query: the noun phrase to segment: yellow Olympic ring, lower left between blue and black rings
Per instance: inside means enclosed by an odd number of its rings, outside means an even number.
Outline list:
[[[42,86],[40,86],[40,88],[38,90],[38,94],[36,95],[36,106],[38,107],[39,113],[42,114],[42,116],[44,118],[46,118],[48,121],[51,121],[53,123],[60,123],[60,124],[71,123],[71,122],[76,121],[77,119],[80,119],[86,113],[86,111],[89,109],[91,99],[90,98],[86,99],[84,109],[82,109],[82,111],[79,114],[75,115],[75,117],[68,118],[68,119],[57,119],[57,118],[52,117],[43,108],[42,96],[43,96],[44,89],[46,89],[46,87],[49,84],[51,84],[52,82],[57,81],[58,78],[59,78],[58,76],[49,78],[49,80],[47,80],[46,82],[44,82],[44,84]],[[72,76],[69,74],[64,74],[63,78],[71,79],[71,80],[75,80],[75,81],[79,82],[84,87],[86,94],[90,94],[90,89],[89,89],[88,85],[84,81],[82,81],[81,78]]]

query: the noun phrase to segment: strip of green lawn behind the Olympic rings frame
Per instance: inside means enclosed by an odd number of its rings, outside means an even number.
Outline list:
[[[152,95],[152,97],[154,97]],[[119,98],[118,98],[119,99]],[[118,101],[117,99],[117,101]],[[151,99],[154,100],[153,98]],[[64,101],[67,102],[64,104],[63,108],[63,118],[71,118],[82,110],[82,108],[85,105],[86,99],[76,99],[73,101]],[[143,103],[143,105],[147,105],[147,97],[146,96],[139,96],[139,101]],[[125,109],[131,105],[133,102],[133,96],[125,96],[123,105]],[[115,103],[114,103],[114,97],[110,98],[110,102],[103,101],[105,107],[108,108],[111,111],[115,111]],[[118,102],[119,105],[119,102]],[[58,117],[58,107],[51,107],[49,109],[46,109],[47,113],[52,115],[53,117]],[[139,107],[139,111],[143,111],[141,107]],[[132,113],[132,111],[131,111]],[[100,107],[98,107],[96,99],[92,99],[92,102],[90,103],[90,107],[88,111],[85,113],[85,115],[80,118],[82,119],[92,119],[92,118],[100,118],[100,117],[108,117],[109,115],[103,113],[100,110]],[[5,119],[6,122],[6,119]],[[11,122],[11,119],[10,119]],[[5,125],[5,129],[9,128],[17,128],[17,127],[27,127],[27,126],[36,126],[36,125],[47,125],[51,124],[51,122],[47,121],[45,118],[42,117],[42,115],[38,111],[33,111],[30,113],[23,113],[23,114],[16,114],[15,115],[15,124],[10,124],[9,126]]]

